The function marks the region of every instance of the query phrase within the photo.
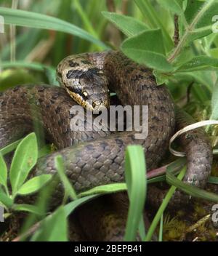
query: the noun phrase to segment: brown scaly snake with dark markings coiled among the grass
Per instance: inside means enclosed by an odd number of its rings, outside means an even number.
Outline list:
[[[180,129],[193,122],[190,116],[185,116],[174,107],[168,89],[164,85],[156,85],[149,68],[134,63],[121,52],[66,57],[57,67],[57,77],[81,105],[90,98],[94,108],[108,105],[108,87],[116,92],[122,105],[148,105],[148,137],[146,140],[136,140],[134,131],[114,134],[109,131],[71,131],[73,114],[70,107],[77,103],[61,87],[18,86],[1,92],[0,148],[30,132],[33,120],[37,119],[44,127],[48,140],[55,143],[59,151],[39,159],[36,174],[55,173],[54,157],[61,154],[66,175],[77,192],[96,185],[123,182],[124,150],[129,144],[142,145],[148,170],[156,168],[166,153],[175,123]],[[187,154],[184,180],[203,187],[211,171],[209,140],[202,129],[195,129],[181,135],[180,141]],[[152,187],[150,191],[153,191]],[[160,201],[163,193],[154,192],[152,196]],[[55,191],[57,204],[61,198],[60,184]],[[111,232],[110,228],[109,240],[117,236],[116,232],[112,235]]]

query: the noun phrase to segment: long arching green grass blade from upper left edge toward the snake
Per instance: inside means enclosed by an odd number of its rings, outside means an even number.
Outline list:
[[[31,28],[51,29],[54,31],[70,33],[74,36],[79,36],[82,39],[91,41],[92,43],[102,47],[102,49],[108,48],[105,46],[105,44],[102,43],[102,41],[94,38],[94,36],[90,35],[83,29],[78,28],[76,25],[70,24],[64,20],[57,19],[56,17],[5,7],[0,7],[0,15],[4,17],[5,24],[21,25]]]

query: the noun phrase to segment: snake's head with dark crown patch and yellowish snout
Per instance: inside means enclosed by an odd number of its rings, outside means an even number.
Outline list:
[[[69,64],[70,63],[70,64]],[[102,111],[110,105],[108,79],[100,68],[86,61],[62,60],[57,66],[57,80],[70,97],[89,111]]]

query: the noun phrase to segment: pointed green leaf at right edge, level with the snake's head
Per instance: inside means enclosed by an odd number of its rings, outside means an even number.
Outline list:
[[[187,63],[183,63],[179,68],[178,72],[190,72],[190,71],[206,71],[214,70],[218,68],[218,59],[215,57],[209,57],[205,55],[199,55],[188,60]]]

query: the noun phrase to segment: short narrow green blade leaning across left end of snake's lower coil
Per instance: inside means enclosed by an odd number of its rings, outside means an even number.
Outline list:
[[[76,192],[74,191],[73,186],[70,184],[68,177],[65,175],[65,167],[64,167],[62,156],[59,155],[55,157],[55,167],[60,176],[62,185],[65,188],[65,196],[67,198],[68,196],[70,196],[71,199],[76,200],[77,199]]]

